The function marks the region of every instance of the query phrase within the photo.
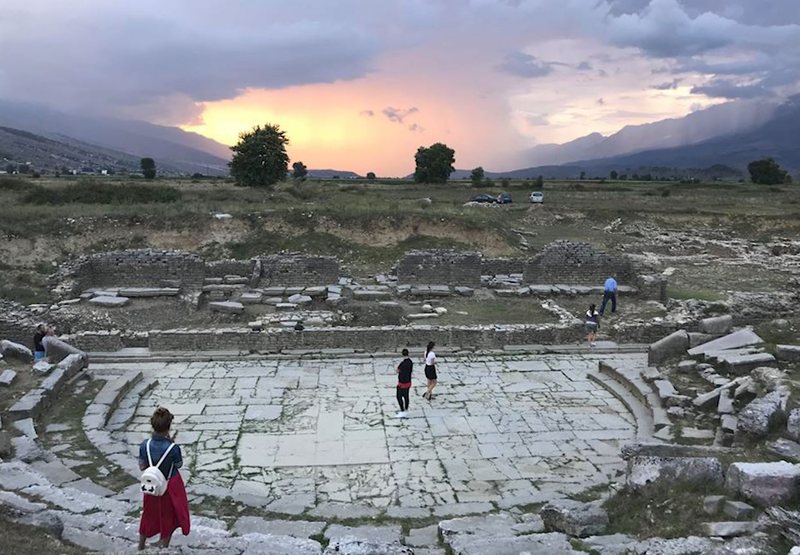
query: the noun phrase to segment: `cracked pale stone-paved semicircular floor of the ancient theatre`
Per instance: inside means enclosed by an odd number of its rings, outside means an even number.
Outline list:
[[[444,358],[432,401],[415,365],[395,418],[399,359],[163,364],[125,432],[174,414],[192,485],[258,496],[276,512],[343,503],[383,510],[533,503],[613,477],[633,417],[587,379],[599,360],[641,354]],[[158,365],[156,365],[158,366]]]

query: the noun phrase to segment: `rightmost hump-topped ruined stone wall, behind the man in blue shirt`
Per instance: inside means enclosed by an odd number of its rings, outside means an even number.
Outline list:
[[[615,276],[620,285],[634,285],[636,271],[624,256],[596,251],[588,243],[555,241],[525,264],[525,283],[602,285]]]

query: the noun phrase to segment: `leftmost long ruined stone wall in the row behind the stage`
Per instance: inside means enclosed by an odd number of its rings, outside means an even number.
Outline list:
[[[141,249],[84,256],[62,267],[57,277],[62,292],[71,289],[74,294],[91,287],[200,289],[205,272],[205,263],[196,254]]]

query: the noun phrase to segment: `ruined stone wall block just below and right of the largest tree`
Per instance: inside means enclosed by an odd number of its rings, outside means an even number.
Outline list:
[[[333,256],[275,254],[258,259],[259,287],[315,287],[339,282],[341,269]]]

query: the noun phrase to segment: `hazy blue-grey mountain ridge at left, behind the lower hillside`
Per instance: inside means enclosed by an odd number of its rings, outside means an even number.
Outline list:
[[[182,173],[225,175],[230,149],[197,133],[142,121],[65,114],[49,108],[0,100],[0,125],[42,137],[79,141],[130,156],[150,156],[157,166]]]

